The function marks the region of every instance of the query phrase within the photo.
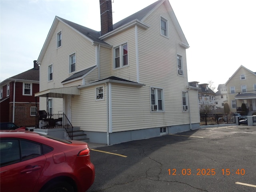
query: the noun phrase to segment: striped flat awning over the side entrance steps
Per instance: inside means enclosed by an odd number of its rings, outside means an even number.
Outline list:
[[[80,90],[77,87],[63,87],[35,93],[35,97],[63,98],[64,95],[80,95]]]

